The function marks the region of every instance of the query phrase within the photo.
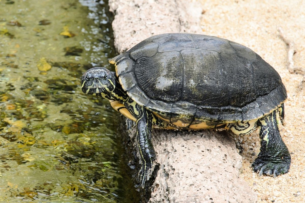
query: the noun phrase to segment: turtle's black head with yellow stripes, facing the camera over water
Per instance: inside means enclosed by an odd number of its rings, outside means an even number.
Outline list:
[[[95,67],[86,71],[81,78],[81,90],[85,94],[111,99],[116,85],[114,72],[106,68]]]

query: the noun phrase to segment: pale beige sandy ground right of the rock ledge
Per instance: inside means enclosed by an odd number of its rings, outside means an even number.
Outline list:
[[[244,151],[243,177],[258,193],[257,202],[305,202],[305,85],[300,89],[302,75],[289,73],[288,48],[279,37],[281,26],[286,37],[295,43],[295,67],[305,64],[305,2],[300,1],[199,1],[202,4],[202,33],[223,37],[243,44],[257,52],[282,77],[288,92],[285,103],[285,126],[281,135],[288,146],[292,164],[289,173],[279,177],[259,177],[251,163],[256,158],[259,136],[235,137],[242,141]]]

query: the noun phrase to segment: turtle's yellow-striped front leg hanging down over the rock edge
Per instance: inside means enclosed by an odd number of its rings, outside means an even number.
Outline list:
[[[142,159],[142,165],[139,171],[139,179],[142,188],[144,188],[145,181],[149,180],[156,154],[151,143],[153,124],[152,115],[150,115],[149,112],[144,108],[142,108],[141,111],[142,112],[139,112],[136,124],[138,146]]]

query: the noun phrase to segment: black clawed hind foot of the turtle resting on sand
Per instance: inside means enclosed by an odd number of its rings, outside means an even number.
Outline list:
[[[290,155],[281,157],[279,160],[268,160],[262,157],[257,157],[252,164],[253,170],[257,172],[260,176],[263,174],[273,175],[276,177],[280,174],[285,174],[289,171],[291,163]]]

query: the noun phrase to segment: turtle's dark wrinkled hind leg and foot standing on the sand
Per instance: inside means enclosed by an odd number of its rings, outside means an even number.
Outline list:
[[[278,130],[276,113],[277,110],[274,110],[257,122],[261,147],[252,167],[259,175],[266,174],[276,177],[289,171],[291,157]]]

